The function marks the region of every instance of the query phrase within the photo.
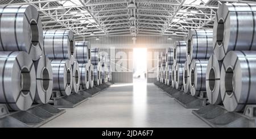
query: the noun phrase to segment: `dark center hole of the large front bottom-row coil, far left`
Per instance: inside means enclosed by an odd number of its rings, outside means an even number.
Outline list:
[[[30,71],[27,68],[23,68],[19,74],[19,87],[23,95],[27,95],[30,92]]]

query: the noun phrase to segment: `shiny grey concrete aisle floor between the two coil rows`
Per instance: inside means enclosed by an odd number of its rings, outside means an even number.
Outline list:
[[[43,127],[209,127],[144,80],[114,84]]]

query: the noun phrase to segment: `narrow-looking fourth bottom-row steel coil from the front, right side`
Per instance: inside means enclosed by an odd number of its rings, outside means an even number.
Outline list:
[[[184,87],[184,92],[185,93],[189,93],[190,92],[189,70],[190,70],[190,65],[186,61],[184,63],[184,69],[183,69],[183,87]]]

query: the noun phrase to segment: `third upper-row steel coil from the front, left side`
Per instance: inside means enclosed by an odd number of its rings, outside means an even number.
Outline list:
[[[90,43],[89,41],[76,41],[76,60],[79,63],[90,64]]]

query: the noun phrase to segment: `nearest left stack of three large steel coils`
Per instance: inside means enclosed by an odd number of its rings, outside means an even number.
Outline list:
[[[34,6],[0,6],[0,103],[26,111],[48,103],[52,69],[43,55],[43,29]]]

